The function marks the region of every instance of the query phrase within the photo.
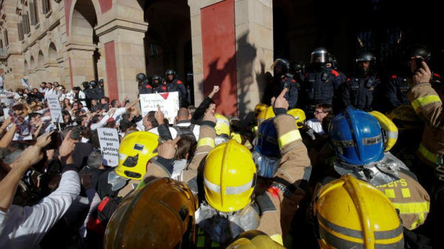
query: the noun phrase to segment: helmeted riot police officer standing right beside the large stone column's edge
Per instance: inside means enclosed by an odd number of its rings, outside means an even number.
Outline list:
[[[274,97],[279,96],[282,90],[287,88],[288,91],[284,98],[288,101],[288,108],[296,108],[296,104],[298,103],[298,84],[293,78],[293,74],[290,74],[290,63],[286,59],[276,59],[272,65],[272,69],[274,70],[274,89],[277,89]]]

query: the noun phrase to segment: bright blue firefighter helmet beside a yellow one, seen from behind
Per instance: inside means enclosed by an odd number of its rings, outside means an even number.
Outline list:
[[[331,120],[330,143],[345,162],[364,165],[384,157],[382,129],[375,117],[347,107]]]

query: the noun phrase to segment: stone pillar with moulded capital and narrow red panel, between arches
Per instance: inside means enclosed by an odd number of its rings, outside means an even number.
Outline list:
[[[136,99],[136,74],[145,72],[143,38],[147,23],[113,20],[96,27],[105,54],[105,95],[110,99]]]

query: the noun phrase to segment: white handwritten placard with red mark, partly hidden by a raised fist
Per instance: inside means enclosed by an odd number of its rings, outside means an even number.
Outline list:
[[[140,95],[140,110],[142,116],[145,117],[150,111],[157,111],[157,105],[160,106],[165,118],[170,124],[173,124],[174,118],[179,111],[179,93],[161,93],[161,94],[141,94]]]

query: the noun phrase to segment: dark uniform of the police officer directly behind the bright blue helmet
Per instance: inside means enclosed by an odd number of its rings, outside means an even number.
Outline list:
[[[354,106],[364,111],[370,110],[379,86],[380,81],[374,76],[348,78],[341,88],[343,107]]]

